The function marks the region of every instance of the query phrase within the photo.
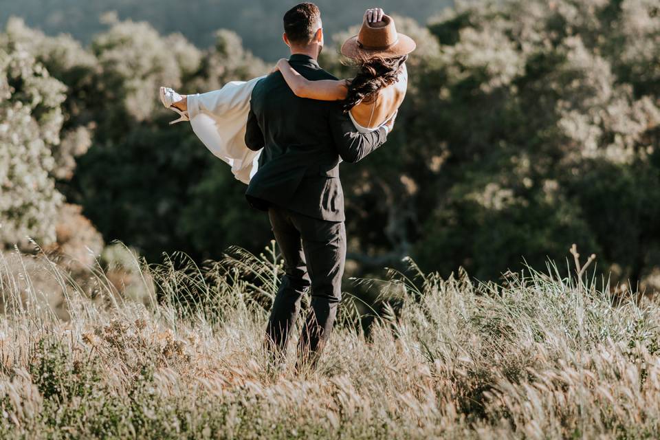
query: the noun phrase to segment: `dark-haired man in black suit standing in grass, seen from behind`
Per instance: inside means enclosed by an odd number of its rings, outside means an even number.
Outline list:
[[[300,3],[289,10],[284,30],[289,63],[298,73],[308,80],[336,79],[316,61],[323,47],[316,5]],[[298,355],[303,364],[318,360],[336,318],[346,259],[340,157],[358,162],[386,141],[388,128],[358,133],[340,102],[298,98],[279,72],[252,91],[245,144],[263,152],[245,195],[252,206],[268,211],[285,261],[266,329],[267,342],[278,355],[286,351],[300,301],[311,285],[311,310]]]

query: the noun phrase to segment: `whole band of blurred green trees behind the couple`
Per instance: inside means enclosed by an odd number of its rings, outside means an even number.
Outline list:
[[[401,268],[412,255],[443,276],[464,267],[494,280],[523,261],[539,267],[548,256],[561,259],[576,242],[599,255],[599,274],[613,283],[634,289],[651,280],[660,261],[657,5],[470,2],[428,26],[396,19],[418,49],[388,143],[358,166],[342,166],[349,275]],[[50,204],[41,217],[30,208],[25,218],[52,219],[47,212],[57,212],[62,193],[106,241],[126,241],[149,261],[162,252],[202,261],[220,259],[229,245],[260,249],[271,238],[265,216],[248,208],[244,187],[188,127],[166,125],[173,116],[155,94],[159,85],[206,91],[268,66],[227,30],[199,50],[181,34],[164,36],[116,14],[104,23],[89,49],[17,20],[3,34],[60,84],[49,87],[59,90],[50,113],[23,109],[52,131],[37,141],[49,158],[25,162],[41,170],[39,197]],[[321,63],[340,77],[353,71],[338,44],[356,30],[327,38]],[[23,53],[13,47],[8,56]],[[61,129],[39,120],[45,114],[61,114]],[[25,121],[11,123],[30,140]],[[32,221],[20,224],[43,231],[5,226],[5,243],[28,232],[52,239],[52,221]]]

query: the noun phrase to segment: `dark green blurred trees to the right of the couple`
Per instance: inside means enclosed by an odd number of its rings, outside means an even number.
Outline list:
[[[428,30],[388,153],[349,179],[356,248],[384,256],[362,260],[493,279],[576,241],[635,288],[660,249],[657,7],[467,3]]]

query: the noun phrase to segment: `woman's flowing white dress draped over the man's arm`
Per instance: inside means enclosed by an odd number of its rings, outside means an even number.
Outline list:
[[[250,112],[252,89],[262,78],[232,81],[219,90],[188,95],[188,118],[192,131],[211,153],[232,167],[236,179],[244,184],[248,184],[259,166],[261,151],[252,151],[245,145],[245,125]],[[380,128],[360,126],[353,115],[351,120],[361,133]]]

